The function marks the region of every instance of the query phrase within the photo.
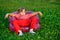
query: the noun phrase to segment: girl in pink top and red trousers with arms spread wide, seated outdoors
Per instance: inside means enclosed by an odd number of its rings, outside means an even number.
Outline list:
[[[29,32],[30,33],[35,33],[34,30],[36,29],[36,15],[40,14],[42,16],[41,12],[32,12],[31,14],[27,14],[25,11],[25,8],[20,8],[17,11],[17,14],[14,13],[8,13],[5,15],[5,18],[8,17],[14,17],[14,21],[12,21],[12,24],[14,26],[15,32],[19,35],[22,36],[23,32],[21,30],[21,27],[24,26],[29,26]]]

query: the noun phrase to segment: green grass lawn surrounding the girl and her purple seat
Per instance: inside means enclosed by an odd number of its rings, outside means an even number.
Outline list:
[[[60,39],[60,1],[44,0],[0,0],[0,40],[59,40]],[[41,11],[41,28],[35,35],[24,33],[22,37],[8,29],[9,21],[4,19],[8,12],[14,12],[19,7],[31,11]]]

